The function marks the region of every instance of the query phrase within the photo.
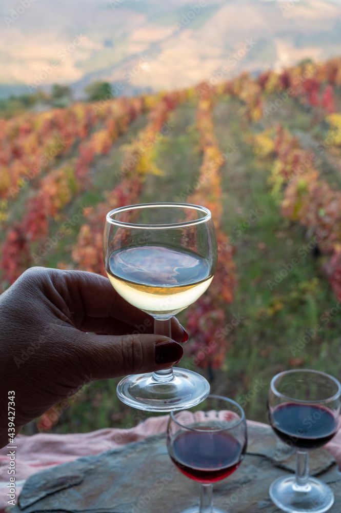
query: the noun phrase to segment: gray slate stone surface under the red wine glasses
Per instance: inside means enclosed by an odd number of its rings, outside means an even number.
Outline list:
[[[283,449],[272,429],[249,427],[247,455],[228,478],[214,484],[214,504],[230,513],[277,513],[270,483],[295,468],[295,453]],[[332,486],[341,511],[341,473],[324,449],[311,452],[311,474]],[[25,483],[12,513],[178,513],[198,503],[199,484],[170,461],[165,434],[79,458],[38,472]]]

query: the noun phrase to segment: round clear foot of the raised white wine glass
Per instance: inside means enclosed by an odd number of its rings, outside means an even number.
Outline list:
[[[210,393],[208,381],[192,370],[173,368],[168,382],[153,379],[153,373],[127,376],[117,385],[117,396],[125,404],[145,411],[175,411],[202,402]]]

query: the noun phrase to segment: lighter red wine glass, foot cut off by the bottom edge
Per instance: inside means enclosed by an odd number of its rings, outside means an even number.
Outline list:
[[[226,513],[212,506],[213,484],[242,463],[247,446],[242,407],[220,396],[208,396],[194,408],[171,412],[167,448],[174,465],[201,483],[200,504],[182,513]]]

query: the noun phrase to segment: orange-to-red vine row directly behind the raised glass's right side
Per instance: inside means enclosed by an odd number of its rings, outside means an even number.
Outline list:
[[[212,213],[217,233],[218,264],[207,292],[186,310],[187,326],[193,339],[191,353],[194,364],[217,369],[225,361],[228,341],[224,336],[226,304],[233,301],[236,286],[232,247],[221,226],[223,205],[220,186],[220,168],[224,157],[219,150],[212,120],[213,95],[205,94],[197,107],[196,126],[199,132],[203,163],[199,169],[197,185],[187,202],[206,206]]]

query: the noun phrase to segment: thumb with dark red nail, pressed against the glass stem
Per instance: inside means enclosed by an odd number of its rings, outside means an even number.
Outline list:
[[[78,360],[82,362],[82,369],[77,370],[85,371],[95,380],[165,369],[184,353],[182,345],[155,334],[111,336],[84,333],[84,338],[82,358]]]

